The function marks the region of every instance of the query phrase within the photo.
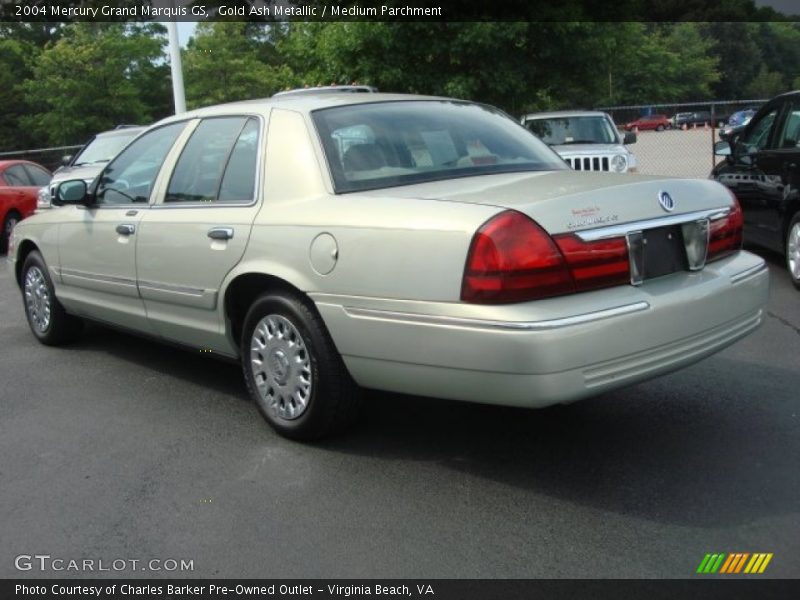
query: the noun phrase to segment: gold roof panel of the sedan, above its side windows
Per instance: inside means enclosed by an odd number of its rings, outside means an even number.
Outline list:
[[[287,108],[303,113],[309,113],[314,110],[322,108],[332,108],[336,106],[348,106],[355,104],[374,104],[379,102],[403,102],[403,101],[419,101],[430,100],[436,102],[464,102],[473,104],[468,100],[459,100],[457,98],[443,98],[441,96],[421,96],[415,94],[354,94],[337,93],[337,94],[286,94],[285,96],[273,96],[272,98],[256,98],[253,100],[242,100],[239,102],[229,102],[227,104],[217,104],[214,106],[206,106],[198,108],[189,112],[167,117],[161,123],[169,123],[172,121],[182,121],[185,119],[197,117],[210,117],[217,115],[230,115],[230,114],[266,114],[271,108]]]

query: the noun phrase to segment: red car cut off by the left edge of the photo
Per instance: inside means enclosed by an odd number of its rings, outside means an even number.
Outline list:
[[[0,253],[8,249],[8,235],[17,221],[36,210],[39,188],[50,183],[50,171],[26,160],[0,160]]]

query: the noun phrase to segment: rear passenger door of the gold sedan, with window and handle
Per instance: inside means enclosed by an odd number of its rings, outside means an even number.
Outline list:
[[[258,212],[264,124],[236,115],[193,127],[158,202],[140,223],[138,288],[160,335],[223,349],[220,286],[244,254]]]

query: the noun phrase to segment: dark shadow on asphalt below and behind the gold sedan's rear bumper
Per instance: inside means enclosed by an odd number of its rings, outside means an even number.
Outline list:
[[[360,427],[324,446],[433,461],[657,522],[728,526],[792,512],[800,497],[800,410],[796,398],[772,397],[764,384],[800,389],[800,372],[756,368],[759,377],[748,378],[752,366],[717,357],[540,410],[370,393]]]

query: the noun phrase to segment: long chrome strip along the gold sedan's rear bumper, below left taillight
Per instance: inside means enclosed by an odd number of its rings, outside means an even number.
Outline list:
[[[558,319],[547,319],[544,321],[491,321],[488,319],[472,319],[464,317],[448,317],[439,315],[423,315],[418,313],[397,312],[391,310],[378,310],[372,308],[357,308],[344,306],[344,311],[356,319],[379,319],[396,321],[401,323],[415,323],[422,325],[433,325],[438,327],[468,327],[474,329],[494,329],[500,331],[549,331],[564,327],[573,327],[593,323],[603,319],[610,319],[622,315],[628,315],[643,310],[648,310],[648,302],[634,302],[607,308],[590,313],[571,315]]]

